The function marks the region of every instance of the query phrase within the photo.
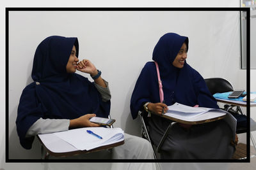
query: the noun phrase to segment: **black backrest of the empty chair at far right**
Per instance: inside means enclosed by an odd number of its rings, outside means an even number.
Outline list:
[[[212,95],[234,91],[232,85],[224,78],[205,78],[204,81]]]

